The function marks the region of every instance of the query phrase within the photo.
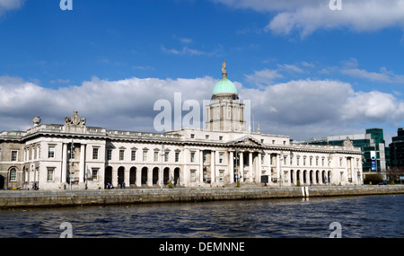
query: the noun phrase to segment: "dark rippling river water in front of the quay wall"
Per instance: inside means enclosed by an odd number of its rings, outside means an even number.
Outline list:
[[[327,238],[331,223],[343,238],[402,238],[403,212],[404,195],[9,209],[0,238]]]

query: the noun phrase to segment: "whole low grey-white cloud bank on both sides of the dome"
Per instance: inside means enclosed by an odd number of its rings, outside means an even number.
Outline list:
[[[270,70],[268,74],[273,77]],[[66,116],[78,110],[88,126],[155,131],[158,112],[154,102],[168,100],[173,107],[174,93],[181,93],[182,102],[202,103],[210,99],[217,81],[209,76],[119,81],[92,77],[79,86],[49,89],[18,77],[0,76],[0,130],[29,128],[35,116],[42,123],[63,124]],[[255,124],[260,123],[265,133],[304,139],[353,133],[369,123],[404,120],[404,102],[396,95],[355,92],[351,84],[340,81],[306,79],[252,89],[234,84],[242,100],[250,100]]]

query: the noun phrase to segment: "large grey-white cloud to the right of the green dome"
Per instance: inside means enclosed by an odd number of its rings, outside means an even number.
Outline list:
[[[368,124],[404,120],[404,102],[380,92],[355,92],[351,84],[332,80],[297,80],[242,89],[261,130],[297,139],[362,131]]]

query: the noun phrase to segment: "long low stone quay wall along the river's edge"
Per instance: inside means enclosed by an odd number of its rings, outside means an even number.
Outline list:
[[[404,185],[176,188],[114,190],[3,190],[0,209],[15,207],[74,207],[214,200],[291,199],[304,197],[404,194]]]

